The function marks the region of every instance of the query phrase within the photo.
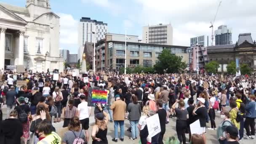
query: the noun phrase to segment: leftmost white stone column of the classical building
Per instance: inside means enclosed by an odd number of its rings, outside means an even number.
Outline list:
[[[6,28],[0,28],[0,70],[5,69],[5,32]],[[3,72],[3,71],[2,71]]]

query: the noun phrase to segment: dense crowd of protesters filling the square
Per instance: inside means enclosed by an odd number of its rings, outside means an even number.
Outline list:
[[[177,138],[173,133],[165,139],[166,144],[206,144],[206,130],[216,130],[220,144],[239,144],[243,139],[255,138],[254,77],[107,72],[75,77],[61,73],[58,80],[53,80],[53,75],[43,72],[5,72],[0,83],[0,143],[108,144],[108,123],[114,124],[113,143],[124,141],[125,120],[129,120],[129,140],[163,144],[169,118],[176,118]],[[17,85],[17,80],[27,84]],[[90,88],[107,89],[111,97],[106,105],[96,104],[91,132]],[[7,107],[5,120],[3,105]],[[219,125],[215,123],[216,113],[223,119]],[[155,114],[160,133],[150,136],[146,120]],[[200,133],[192,133],[189,125],[197,120]],[[61,121],[63,128],[56,130],[53,123]],[[206,128],[206,123],[211,127]]]

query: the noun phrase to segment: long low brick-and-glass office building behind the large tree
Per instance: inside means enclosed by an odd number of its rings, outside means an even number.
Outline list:
[[[163,49],[171,50],[171,53],[180,56],[189,67],[189,46],[160,45],[151,43],[140,43],[138,36],[127,35],[131,39],[127,40],[127,67],[152,67],[158,61],[157,57]],[[103,69],[119,69],[125,64],[125,35],[106,34],[105,40],[96,43],[96,71]]]

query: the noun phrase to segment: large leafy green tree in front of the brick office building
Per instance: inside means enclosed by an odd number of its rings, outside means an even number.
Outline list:
[[[158,62],[154,65],[158,73],[179,73],[186,68],[186,64],[182,62],[180,56],[171,54],[171,51],[164,49],[158,56]],[[165,70],[165,71],[164,71]]]

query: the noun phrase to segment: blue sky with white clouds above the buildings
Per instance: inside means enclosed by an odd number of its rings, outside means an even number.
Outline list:
[[[25,6],[26,0],[1,0]],[[190,46],[190,38],[209,36],[220,0],[50,0],[51,9],[60,18],[60,48],[77,53],[77,27],[81,17],[90,17],[108,24],[108,32],[138,35],[147,25],[170,24],[173,45]],[[232,28],[232,41],[240,33],[251,33],[256,40],[256,0],[222,0],[214,22]]]

